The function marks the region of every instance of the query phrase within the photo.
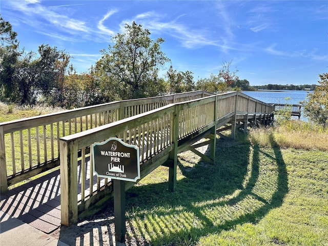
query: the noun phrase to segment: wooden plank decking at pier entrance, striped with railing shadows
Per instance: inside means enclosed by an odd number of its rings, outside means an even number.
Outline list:
[[[1,194],[0,209],[40,231],[53,232],[60,226],[59,179],[57,170]]]

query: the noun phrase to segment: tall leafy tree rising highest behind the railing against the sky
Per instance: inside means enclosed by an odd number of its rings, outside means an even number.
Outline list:
[[[97,74],[103,77],[103,81],[111,79],[107,90],[115,87],[121,99],[148,96],[151,91],[147,88],[162,83],[158,79],[158,70],[169,58],[160,49],[164,39],[152,40],[150,34],[135,22],[126,24],[125,31],[113,37],[114,45],[101,51],[103,56],[97,61]]]

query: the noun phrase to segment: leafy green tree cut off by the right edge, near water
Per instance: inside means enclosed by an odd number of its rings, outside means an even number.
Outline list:
[[[301,102],[304,115],[319,125],[328,126],[328,73],[319,74],[319,86]]]

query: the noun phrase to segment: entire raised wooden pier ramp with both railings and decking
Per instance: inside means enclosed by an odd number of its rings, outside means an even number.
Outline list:
[[[47,233],[76,223],[113,195],[111,179],[93,173],[90,146],[114,136],[139,148],[141,178],[160,165],[168,167],[174,191],[179,152],[192,150],[213,163],[216,134],[231,129],[234,138],[237,128],[270,124],[273,112],[273,105],[240,92],[196,91],[2,122],[0,209]],[[210,139],[203,143],[210,146],[209,156],[194,145],[203,137]],[[59,164],[60,171],[8,191]]]

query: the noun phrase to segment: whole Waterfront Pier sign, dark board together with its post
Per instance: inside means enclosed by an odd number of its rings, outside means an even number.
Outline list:
[[[93,170],[98,177],[113,179],[115,239],[124,242],[125,181],[136,182],[140,178],[139,149],[112,137],[92,145]]]

